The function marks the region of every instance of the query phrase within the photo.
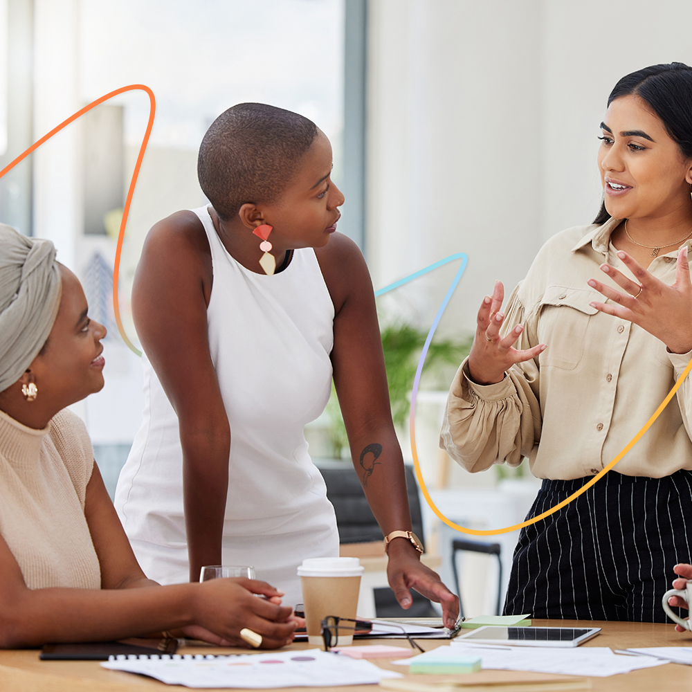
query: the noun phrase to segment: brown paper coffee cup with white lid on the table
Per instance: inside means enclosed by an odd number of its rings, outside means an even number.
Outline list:
[[[322,644],[321,622],[328,615],[355,619],[364,571],[358,558],[307,558],[298,567],[310,644]],[[353,628],[355,623],[345,622],[344,626]],[[352,630],[338,632],[339,646],[352,641]]]

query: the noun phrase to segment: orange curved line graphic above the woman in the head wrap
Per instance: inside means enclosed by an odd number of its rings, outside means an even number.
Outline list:
[[[60,125],[53,127],[53,129],[50,132],[44,134],[42,138],[37,140],[35,143],[33,143],[33,145],[26,149],[26,152],[19,154],[19,156],[17,156],[17,158],[15,158],[14,161],[8,163],[8,165],[6,165],[6,167],[4,167],[3,170],[0,171],[0,178],[8,171],[12,170],[12,168],[14,168],[17,165],[17,163],[19,163],[20,161],[24,161],[24,159],[29,154],[31,154],[31,152],[34,152],[36,149],[38,149],[54,134],[60,132],[60,130],[62,130],[63,127],[66,127],[66,125],[69,125],[74,120],[77,120],[77,118],[83,116],[84,113],[86,113],[87,111],[91,111],[91,109],[95,106],[98,106],[98,104],[103,103],[104,101],[109,100],[109,98],[113,98],[113,96],[117,96],[120,93],[124,93],[125,91],[137,90],[147,92],[147,94],[149,95],[149,102],[151,104],[151,107],[149,109],[149,122],[147,123],[147,131],[145,132],[144,138],[142,140],[142,145],[139,149],[139,156],[137,157],[137,163],[134,167],[134,172],[132,174],[132,179],[130,181],[129,190],[127,191],[125,209],[122,212],[122,221],[120,221],[120,233],[118,233],[118,246],[116,247],[116,262],[113,266],[113,313],[115,313],[116,325],[118,325],[118,331],[120,331],[120,336],[122,336],[122,340],[125,341],[125,343],[132,351],[134,351],[138,356],[141,356],[142,353],[136,347],[134,347],[129,338],[127,338],[127,334],[125,334],[125,329],[123,329],[122,327],[122,320],[120,320],[120,306],[118,304],[118,275],[120,273],[120,252],[122,251],[122,238],[125,235],[125,224],[127,224],[127,215],[129,215],[129,208],[132,202],[132,194],[134,193],[134,188],[137,184],[137,178],[139,176],[139,170],[142,165],[142,159],[144,158],[144,152],[147,149],[147,144],[149,143],[149,136],[152,134],[152,125],[154,125],[154,113],[156,112],[156,99],[154,98],[154,92],[151,89],[149,89],[148,86],[145,86],[145,84],[130,84],[129,86],[121,86],[120,89],[110,91],[106,95],[103,95],[101,98],[97,98],[95,101],[92,101],[90,104],[84,106],[84,108],[78,110],[76,113],[71,115],[69,118],[67,118],[67,120],[63,120],[60,123]]]

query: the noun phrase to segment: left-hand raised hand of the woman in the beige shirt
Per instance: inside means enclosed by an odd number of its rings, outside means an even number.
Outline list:
[[[504,322],[504,314],[500,312],[503,300],[504,286],[501,281],[496,281],[492,298],[486,295],[478,311],[476,333],[468,356],[468,372],[471,379],[480,385],[501,382],[504,372],[514,363],[530,361],[545,350],[545,344],[524,351],[513,347],[524,330],[523,325],[516,325],[507,336],[500,337],[500,327]]]

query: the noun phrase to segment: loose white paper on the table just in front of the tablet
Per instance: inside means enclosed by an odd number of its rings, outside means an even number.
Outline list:
[[[450,655],[459,657],[478,656],[484,670],[531,671],[533,673],[561,673],[608,677],[619,673],[629,673],[637,668],[651,668],[665,664],[666,661],[651,656],[619,656],[610,648],[585,646],[583,648],[527,648],[524,646],[471,646],[461,641],[453,641],[450,646],[440,646],[426,653],[394,663],[408,666],[414,661],[435,661],[448,659]]]

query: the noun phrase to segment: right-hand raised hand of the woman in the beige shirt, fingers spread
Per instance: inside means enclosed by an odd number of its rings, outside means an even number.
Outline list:
[[[661,340],[671,353],[687,353],[692,350],[692,282],[687,246],[680,248],[677,253],[675,283],[672,286],[648,273],[627,253],[620,251],[617,256],[637,281],[628,279],[610,264],[601,264],[601,270],[625,293],[590,279],[589,286],[612,301],[592,302],[591,306],[646,329],[649,334]]]

